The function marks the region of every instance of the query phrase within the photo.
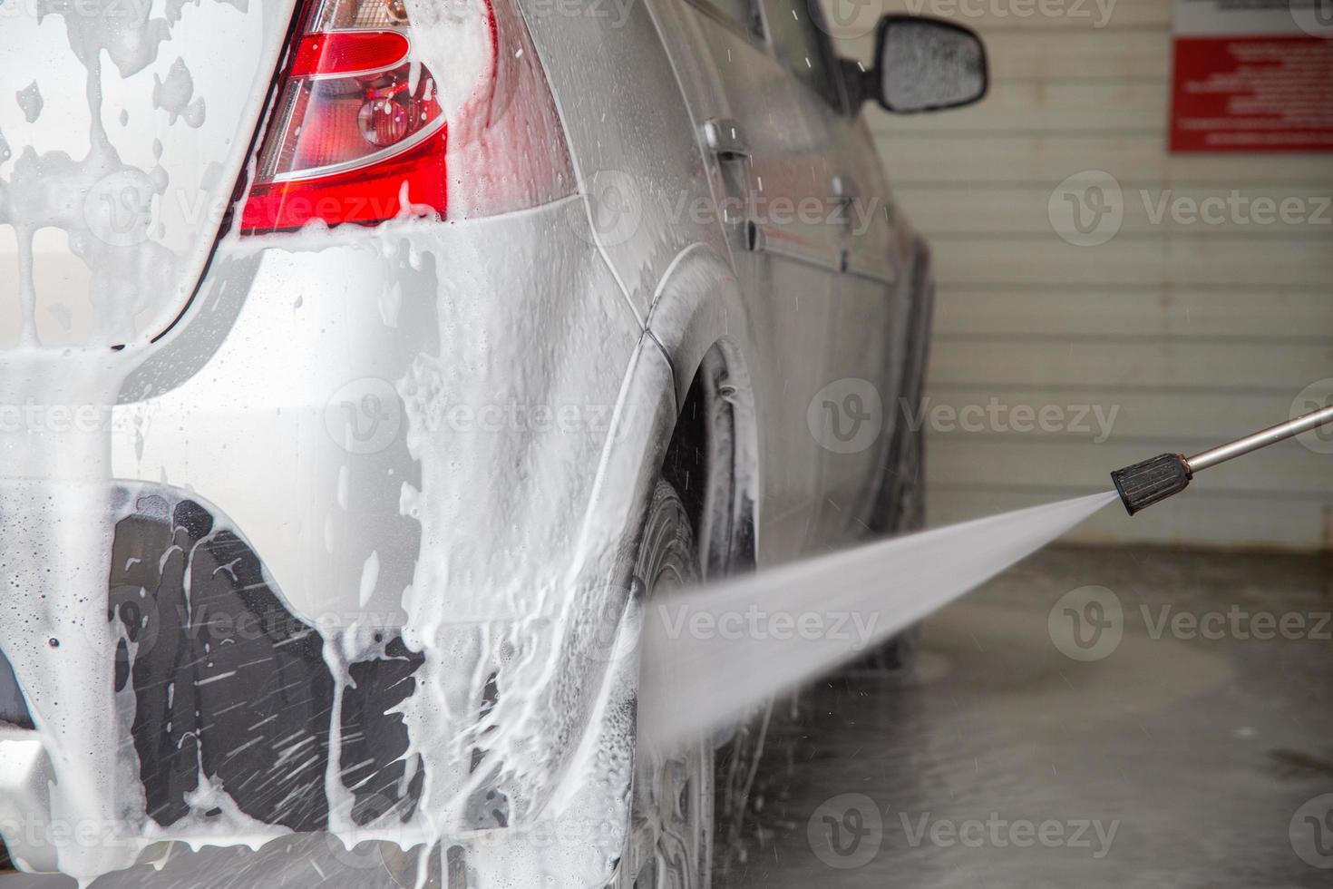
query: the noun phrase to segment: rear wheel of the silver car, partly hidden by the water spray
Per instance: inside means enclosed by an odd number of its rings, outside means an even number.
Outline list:
[[[689,514],[672,488],[659,481],[644,524],[635,576],[652,602],[698,582],[698,553]],[[640,737],[629,848],[616,889],[709,889],[713,854],[713,746],[702,741],[661,753]]]

